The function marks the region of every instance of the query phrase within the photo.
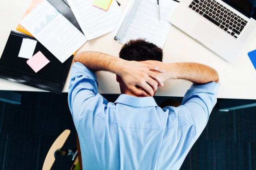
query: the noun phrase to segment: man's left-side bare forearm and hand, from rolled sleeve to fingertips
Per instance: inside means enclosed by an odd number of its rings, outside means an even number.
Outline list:
[[[105,70],[119,75],[137,96],[153,96],[158,85],[163,86],[159,77],[163,70],[152,64],[126,61],[99,52],[81,52],[75,55],[73,62],[80,62],[93,71]]]

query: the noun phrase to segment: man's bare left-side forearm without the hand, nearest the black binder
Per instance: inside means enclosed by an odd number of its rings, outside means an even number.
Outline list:
[[[82,52],[74,57],[74,62],[80,62],[93,71],[110,71],[120,74],[123,60],[100,52]]]

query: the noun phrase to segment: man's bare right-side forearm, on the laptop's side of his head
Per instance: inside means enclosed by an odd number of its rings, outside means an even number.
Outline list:
[[[193,83],[219,82],[219,76],[213,68],[199,63],[170,63],[169,78],[185,79]]]

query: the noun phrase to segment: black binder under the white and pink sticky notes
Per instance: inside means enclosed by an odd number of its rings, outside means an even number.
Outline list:
[[[29,35],[11,31],[0,59],[0,78],[61,93],[70,70],[73,56],[64,63],[61,63],[40,42],[37,42],[34,54],[41,51],[50,63],[35,73],[26,63],[27,59],[18,57],[23,38],[36,40]]]

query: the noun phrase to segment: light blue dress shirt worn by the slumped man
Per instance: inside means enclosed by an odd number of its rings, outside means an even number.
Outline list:
[[[153,97],[120,95],[108,102],[93,71],[71,69],[69,107],[84,169],[176,170],[205,128],[219,84],[193,84],[179,107],[157,106]]]

